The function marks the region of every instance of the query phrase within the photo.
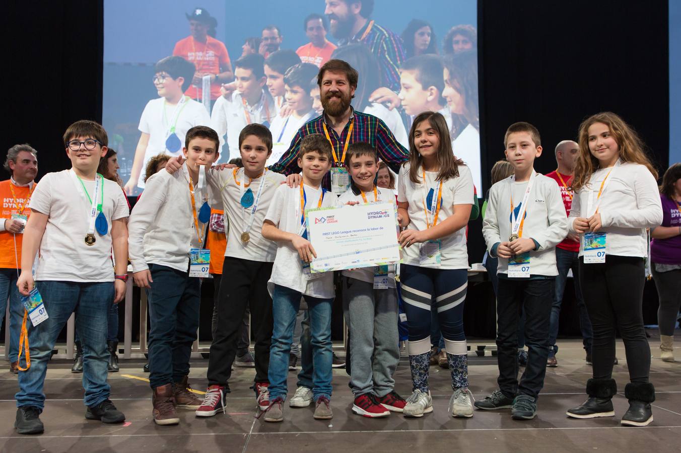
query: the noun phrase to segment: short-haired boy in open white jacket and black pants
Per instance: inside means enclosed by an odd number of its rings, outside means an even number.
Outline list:
[[[496,294],[499,390],[475,401],[478,409],[511,408],[516,420],[537,415],[544,384],[548,328],[556,267],[555,247],[567,236],[567,216],[558,184],[533,168],[541,156],[539,131],[511,124],[504,144],[514,174],[490,189],[482,233],[490,256],[499,258]],[[524,309],[528,360],[518,383],[518,317]]]

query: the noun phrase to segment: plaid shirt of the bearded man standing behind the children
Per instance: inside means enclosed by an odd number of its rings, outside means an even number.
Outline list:
[[[321,116],[317,116],[314,120],[306,122],[303,127],[298,129],[294,139],[291,141],[289,149],[281,158],[279,158],[279,162],[270,167],[270,170],[276,171],[277,173],[284,173],[285,175],[300,173],[300,167],[298,167],[298,150],[300,150],[300,142],[306,135],[324,135],[322,124],[325,121],[325,118],[326,116],[321,114]],[[345,140],[348,139],[347,133],[351,122],[354,122],[355,125],[352,130],[350,143],[352,144],[358,141],[368,142],[368,144],[376,148],[381,161],[384,161],[392,171],[399,173],[400,165],[409,159],[409,150],[398,143],[395,136],[392,135],[392,132],[390,132],[390,129],[387,128],[382,120],[373,115],[356,112],[354,109],[350,116],[350,120],[345,124],[343,133],[341,133],[340,136],[338,136],[334,128],[327,123],[326,127],[329,131],[329,137],[331,137],[331,144],[336,152],[336,156],[338,156],[339,159],[343,156],[343,145],[345,144]],[[333,164],[333,167],[341,166],[340,163]],[[331,190],[331,176],[329,173],[324,175],[321,184],[323,188]]]

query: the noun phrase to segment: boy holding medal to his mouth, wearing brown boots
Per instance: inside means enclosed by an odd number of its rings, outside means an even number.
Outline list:
[[[176,407],[198,409],[202,402],[189,391],[187,375],[199,327],[197,277],[208,277],[210,261],[210,251],[201,248],[210,220],[205,166],[217,160],[219,144],[210,127],[189,129],[187,165],[146,180],[128,224],[133,277],[137,286],[149,288],[151,301],[149,383],[156,424],[178,424]]]

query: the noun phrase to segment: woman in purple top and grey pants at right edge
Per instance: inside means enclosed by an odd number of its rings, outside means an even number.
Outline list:
[[[650,261],[660,298],[660,357],[664,362],[674,362],[674,326],[681,305],[681,163],[665,171],[660,198],[663,218],[651,232]]]

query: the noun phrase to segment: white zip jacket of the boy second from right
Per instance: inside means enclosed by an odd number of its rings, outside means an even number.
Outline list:
[[[528,181],[516,182],[513,177],[494,184],[482,222],[482,234],[487,249],[511,236],[511,195],[513,207],[522,202]],[[530,251],[531,275],[558,275],[556,244],[567,236],[567,215],[560,188],[552,178],[537,175],[528,197],[522,237],[531,237],[539,248]],[[499,258],[497,273],[508,273],[508,259]]]

